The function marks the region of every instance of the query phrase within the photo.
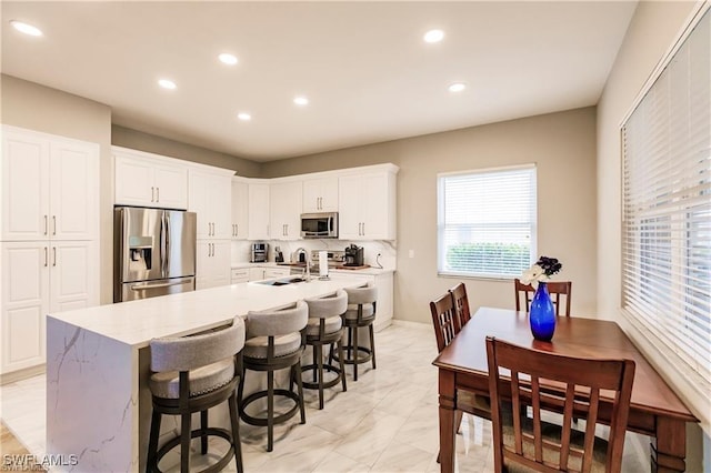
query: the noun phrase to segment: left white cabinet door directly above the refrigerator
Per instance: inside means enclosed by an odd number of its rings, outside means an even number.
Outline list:
[[[116,195],[119,205],[158,207],[150,161],[116,154]]]

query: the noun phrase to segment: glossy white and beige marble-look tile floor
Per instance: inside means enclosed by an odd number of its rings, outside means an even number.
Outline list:
[[[438,472],[437,346],[431,326],[395,323],[375,334],[378,369],[361,365],[358,382],[348,368],[348,392],[306,391],[307,424],[298,416],[276,427],[266,452],[266,429],[241,423],[247,472]],[[368,366],[362,369],[362,366]],[[339,385],[340,386],[340,385]],[[37,455],[44,454],[44,376],[0,388],[0,415]],[[464,416],[457,436],[459,472],[491,472],[491,425]],[[624,472],[649,471],[648,440],[628,435]],[[164,459],[170,466],[177,459]],[[228,471],[234,471],[231,463]]]

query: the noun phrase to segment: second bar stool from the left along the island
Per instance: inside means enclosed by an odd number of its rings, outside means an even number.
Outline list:
[[[240,417],[251,425],[267,426],[267,451],[271,452],[274,444],[274,424],[279,424],[301,412],[301,423],[307,422],[303,407],[303,385],[301,383],[301,355],[306,348],[306,326],[309,319],[309,308],[299,301],[293,306],[247,314],[247,341],[244,342],[244,370],[266,371],[267,390],[257,391],[247,397],[244,379],[240,379],[238,390]],[[289,389],[274,389],[274,371],[290,369]],[[298,392],[293,392],[293,382]],[[274,396],[282,396],[293,401],[293,406],[283,414],[274,416]],[[267,416],[253,416],[247,413],[247,407],[267,397]]]

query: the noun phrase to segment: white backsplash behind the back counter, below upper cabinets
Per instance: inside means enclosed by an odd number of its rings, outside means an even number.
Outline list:
[[[349,240],[293,240],[293,241],[281,241],[281,240],[266,240],[266,243],[269,243],[269,254],[267,255],[268,262],[274,261],[274,248],[279,246],[281,252],[284,255],[284,261],[289,262],[291,254],[297,251],[299,248],[303,248],[309,250],[310,252],[319,251],[319,250],[346,250],[346,246],[349,246],[351,243],[357,244],[359,246],[363,246],[364,253],[364,263],[369,264],[373,268],[378,266],[375,259],[380,253],[381,256],[379,259],[380,264],[384,269],[394,270],[395,269],[395,259],[397,259],[397,250],[385,241],[349,241]],[[232,264],[243,264],[249,263],[250,259],[250,250],[252,241],[240,240],[232,241]]]

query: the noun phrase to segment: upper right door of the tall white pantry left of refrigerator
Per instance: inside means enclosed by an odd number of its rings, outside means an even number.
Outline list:
[[[52,142],[50,234],[56,240],[98,238],[99,145]]]

